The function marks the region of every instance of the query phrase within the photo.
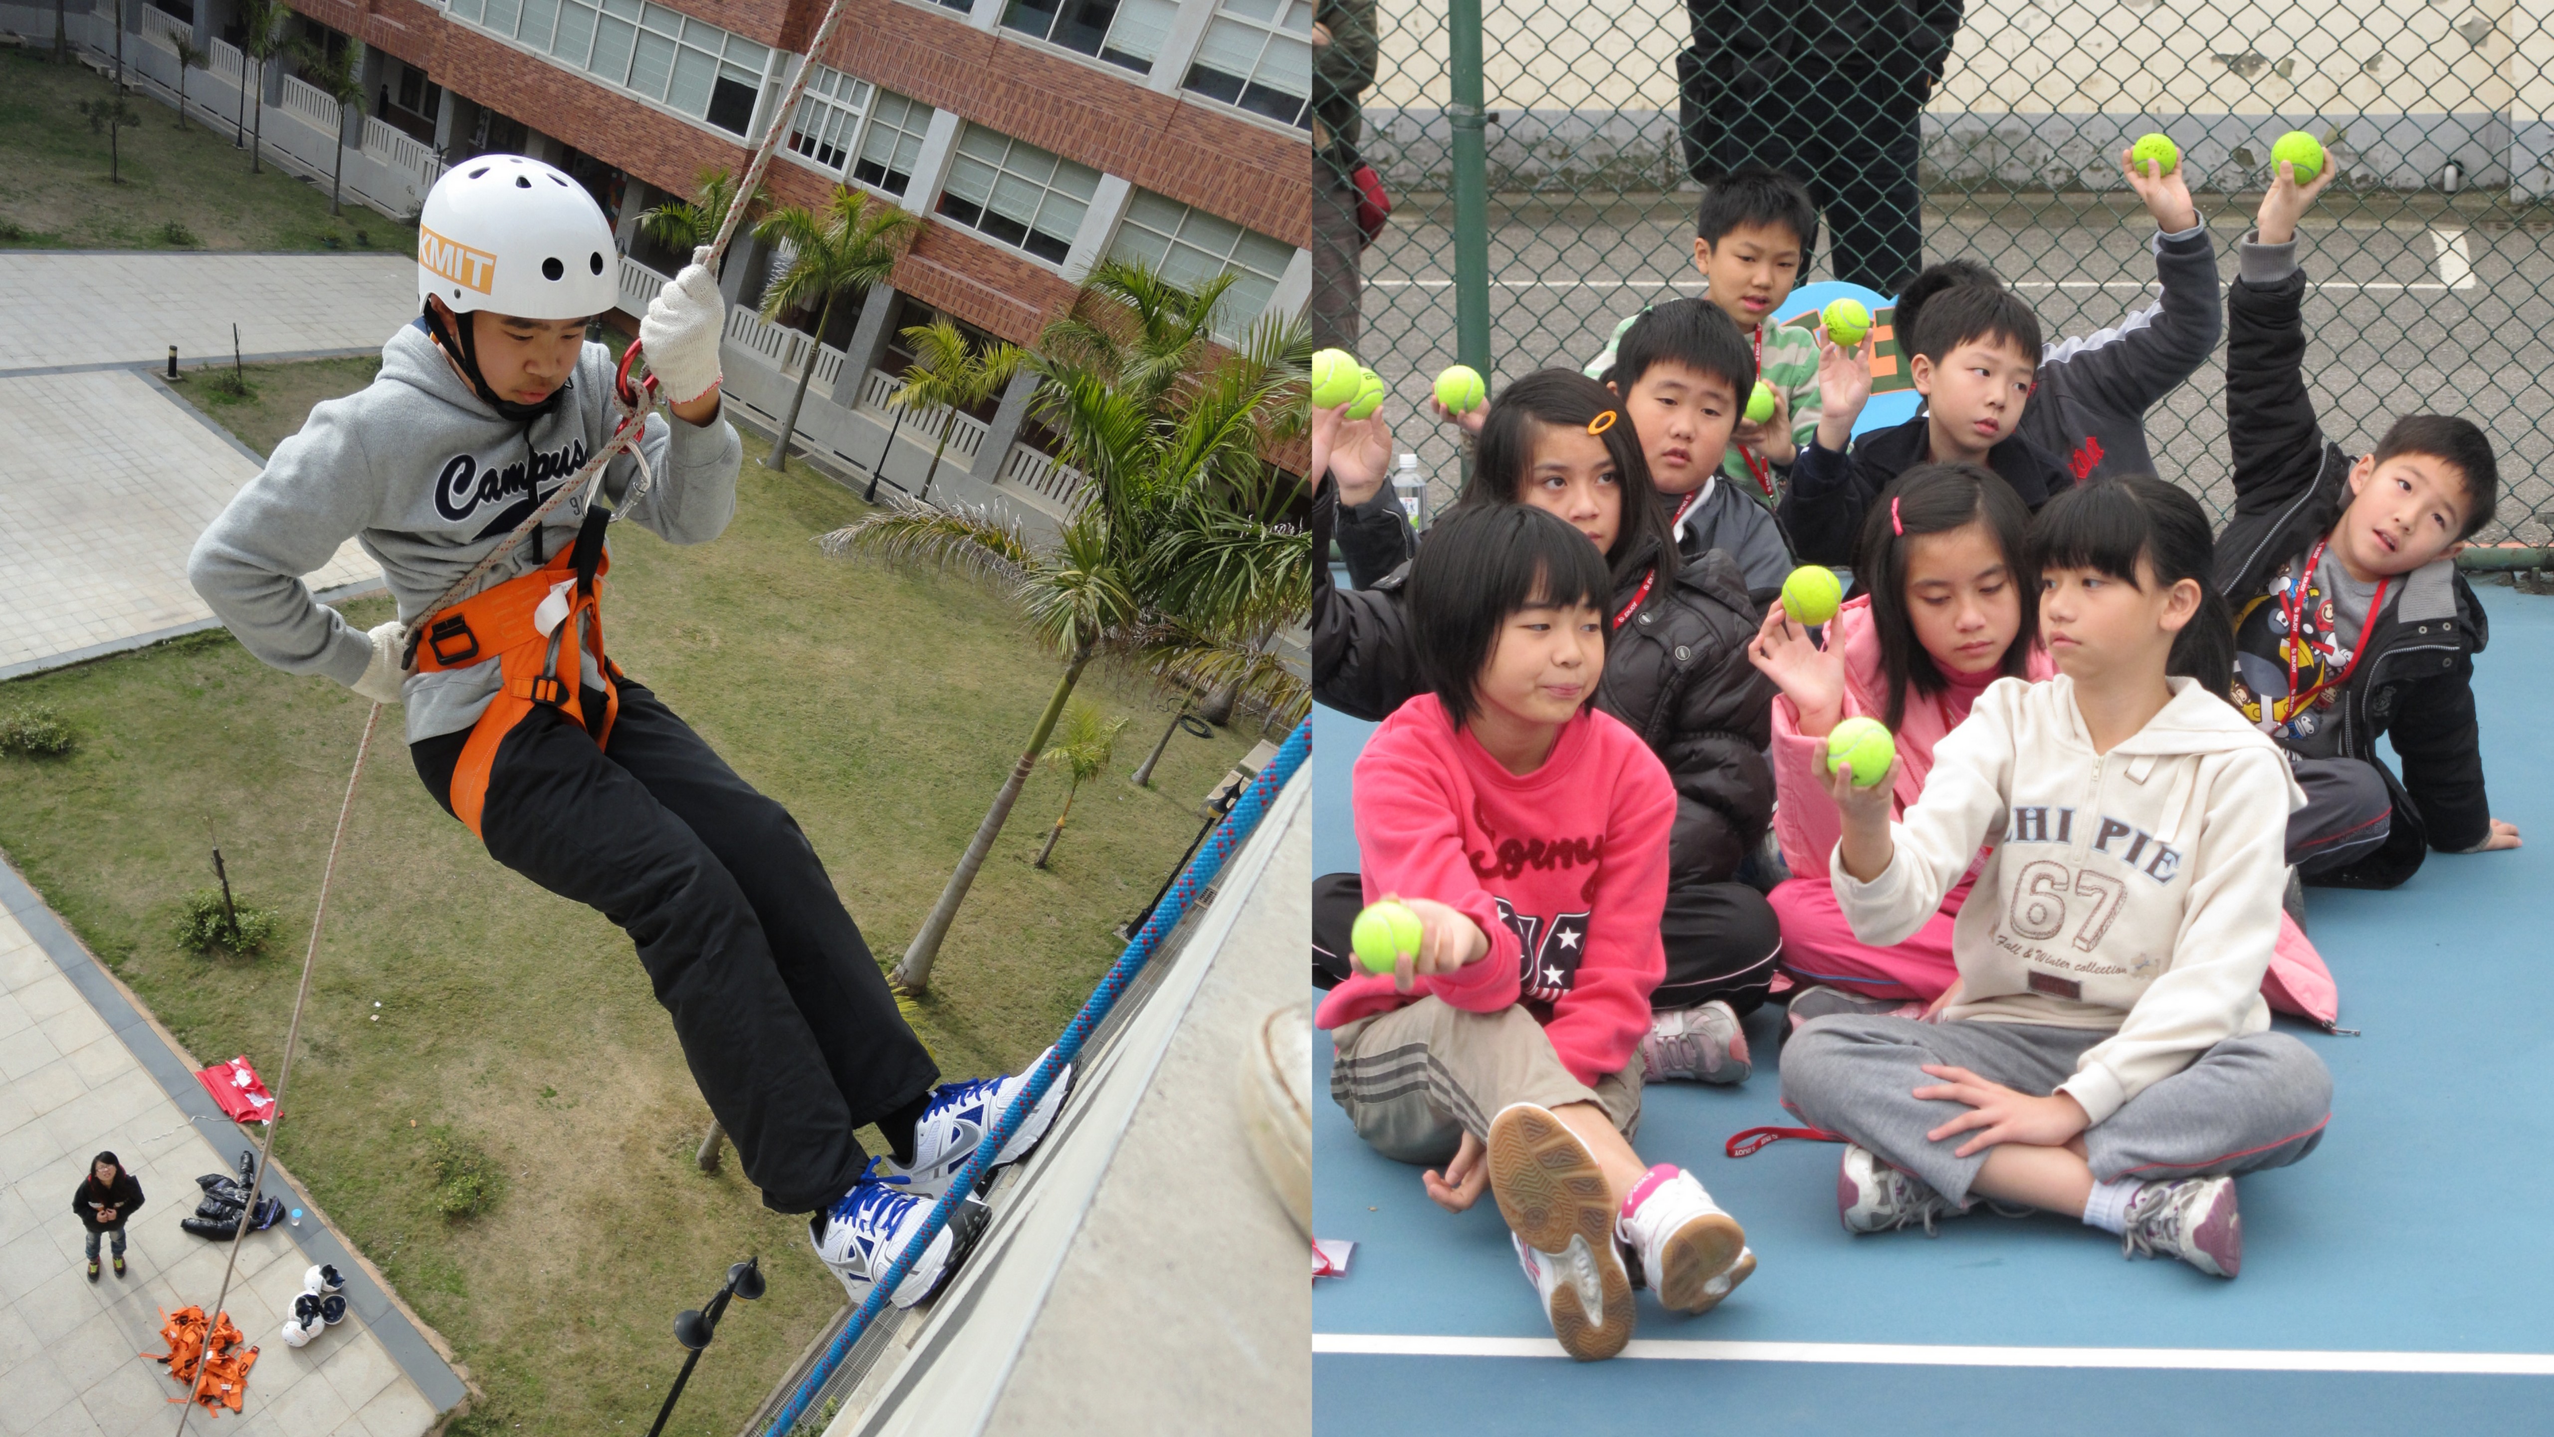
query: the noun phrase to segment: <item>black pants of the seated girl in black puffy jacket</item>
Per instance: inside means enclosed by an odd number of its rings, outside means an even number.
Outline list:
[[[1338,987],[1356,972],[1349,933],[1364,903],[1364,885],[1354,872],[1313,880],[1315,984]],[[1650,995],[1652,1010],[1698,1007],[1719,997],[1744,1018],[1765,1002],[1783,928],[1762,892],[1744,882],[1668,887],[1658,936],[1668,946],[1668,977]]]

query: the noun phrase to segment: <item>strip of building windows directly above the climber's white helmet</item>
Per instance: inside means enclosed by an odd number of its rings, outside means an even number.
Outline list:
[[[447,13],[567,69],[743,136],[771,51],[644,0],[450,0]]]

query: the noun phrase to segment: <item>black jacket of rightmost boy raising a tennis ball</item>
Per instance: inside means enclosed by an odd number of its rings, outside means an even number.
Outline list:
[[[2306,274],[2293,245],[2242,248],[2227,289],[2227,432],[2235,514],[2217,534],[2217,586],[2242,616],[2350,506],[2350,465],[2314,422],[2306,394]],[[2475,724],[2475,655],[2490,642],[2482,603],[2454,560],[2408,573],[2368,634],[2342,701],[2342,754],[2385,775],[2393,831],[2360,862],[2316,882],[2396,887],[2426,849],[2467,851],[2493,834]],[[2237,624],[2242,632],[2242,624]],[[2393,734],[2401,780],[2378,757]]]

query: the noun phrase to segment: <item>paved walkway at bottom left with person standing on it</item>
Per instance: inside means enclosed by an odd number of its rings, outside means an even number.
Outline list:
[[[184,1059],[69,938],[15,869],[0,864],[0,1434],[130,1437],[176,1429],[181,1386],[140,1353],[163,1353],[161,1312],[209,1304],[220,1243],[192,1238],[197,1174],[225,1171],[248,1146]],[[87,1281],[72,1192],[97,1151],[143,1184],[128,1276]],[[291,1204],[309,1207],[281,1181]],[[286,1348],[283,1314],[301,1273],[347,1273],[350,1317]],[[460,1378],[393,1309],[335,1235],[253,1232],[225,1304],[261,1348],[243,1414],[197,1414],[189,1429],[232,1437],[419,1437],[462,1399]]]

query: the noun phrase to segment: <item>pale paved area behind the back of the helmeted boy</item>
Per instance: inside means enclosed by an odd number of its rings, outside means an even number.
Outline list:
[[[0,680],[209,626],[186,552],[263,460],[138,368],[378,348],[404,256],[0,253]],[[381,573],[347,542],[309,575]]]

